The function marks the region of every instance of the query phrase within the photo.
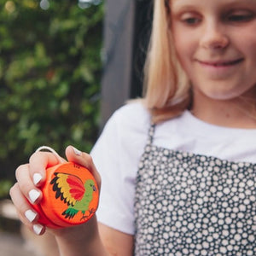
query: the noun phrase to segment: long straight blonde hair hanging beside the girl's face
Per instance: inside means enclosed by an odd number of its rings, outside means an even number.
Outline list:
[[[154,20],[144,67],[144,99],[153,122],[189,108],[189,81],[177,61],[170,29],[169,0],[154,0]]]

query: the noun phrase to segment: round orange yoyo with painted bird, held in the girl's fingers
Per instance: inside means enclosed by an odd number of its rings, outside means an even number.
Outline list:
[[[98,207],[95,178],[84,166],[72,162],[49,167],[40,189],[43,199],[32,207],[39,213],[38,223],[50,228],[83,224]]]

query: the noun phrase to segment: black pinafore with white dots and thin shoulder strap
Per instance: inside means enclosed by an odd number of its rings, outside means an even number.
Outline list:
[[[156,147],[153,137],[154,125],[137,173],[135,255],[256,255],[256,165]]]

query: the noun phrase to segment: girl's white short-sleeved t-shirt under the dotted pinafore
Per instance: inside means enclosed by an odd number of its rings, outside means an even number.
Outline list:
[[[91,151],[102,176],[98,221],[134,235],[135,179],[148,139],[150,114],[142,103],[119,108],[108,120]],[[157,125],[154,145],[222,160],[256,163],[256,129],[210,125],[189,111]]]

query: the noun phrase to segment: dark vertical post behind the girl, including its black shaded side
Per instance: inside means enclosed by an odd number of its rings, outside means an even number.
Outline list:
[[[108,0],[104,20],[102,125],[127,99],[142,95],[151,0]]]

